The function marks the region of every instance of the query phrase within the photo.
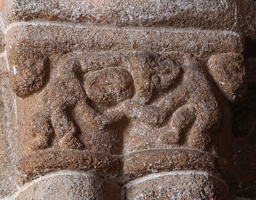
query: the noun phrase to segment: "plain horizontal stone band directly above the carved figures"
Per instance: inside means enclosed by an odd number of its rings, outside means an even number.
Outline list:
[[[35,21],[9,26],[6,51],[33,51],[60,55],[73,51],[178,51],[207,61],[212,54],[244,52],[244,40],[232,31],[115,26],[80,26]]]

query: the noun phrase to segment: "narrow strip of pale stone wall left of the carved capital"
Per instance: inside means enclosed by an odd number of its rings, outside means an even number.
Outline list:
[[[4,69],[6,61],[0,57],[0,66]],[[15,148],[12,142],[16,134],[15,94],[10,89],[9,76],[0,74],[0,198],[12,194],[15,184]]]

